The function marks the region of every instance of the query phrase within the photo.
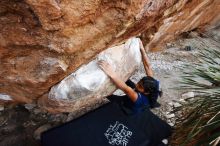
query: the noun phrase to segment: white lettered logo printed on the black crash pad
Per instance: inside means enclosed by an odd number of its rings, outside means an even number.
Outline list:
[[[116,121],[114,125],[109,126],[104,135],[111,145],[127,146],[132,132],[124,124]]]

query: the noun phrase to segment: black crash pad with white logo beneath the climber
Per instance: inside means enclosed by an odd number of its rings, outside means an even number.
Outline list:
[[[160,146],[171,127],[150,110],[127,115],[108,103],[41,135],[42,146]]]

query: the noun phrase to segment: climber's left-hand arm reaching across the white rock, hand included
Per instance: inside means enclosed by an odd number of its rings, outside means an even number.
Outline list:
[[[128,97],[135,102],[137,100],[137,93],[129,86],[127,86],[116,74],[116,72],[113,71],[110,64],[108,64],[105,61],[99,61],[98,62],[99,67],[111,78],[111,80],[114,82],[114,84],[121,89]]]

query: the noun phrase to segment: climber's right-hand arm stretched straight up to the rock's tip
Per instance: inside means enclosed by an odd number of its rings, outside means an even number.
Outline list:
[[[147,76],[153,77],[153,70],[151,69],[150,61],[145,53],[144,46],[140,40],[139,40],[139,45],[140,45],[140,51],[141,51],[145,72]]]

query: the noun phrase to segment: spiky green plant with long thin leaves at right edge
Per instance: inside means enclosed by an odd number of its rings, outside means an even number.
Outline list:
[[[183,68],[181,89],[191,90],[195,97],[176,112],[173,146],[220,145],[220,50],[199,50],[198,62]]]

